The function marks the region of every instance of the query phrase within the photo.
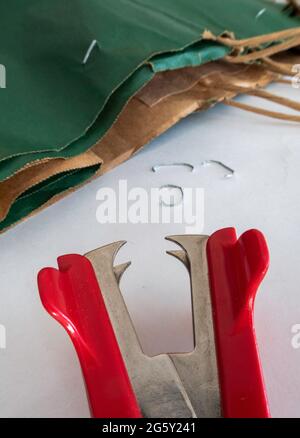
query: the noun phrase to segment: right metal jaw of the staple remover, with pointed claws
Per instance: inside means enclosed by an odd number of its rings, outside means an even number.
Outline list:
[[[181,251],[175,250],[169,253],[183,261],[185,265],[186,260],[188,261],[195,341],[193,352],[172,354],[170,357],[197,416],[218,417],[220,398],[206,259],[208,237],[181,235],[169,236],[166,239],[182,248]]]

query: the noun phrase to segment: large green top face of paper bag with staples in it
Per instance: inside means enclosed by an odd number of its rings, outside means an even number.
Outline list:
[[[245,38],[298,24],[261,0],[10,0],[0,16],[0,160],[73,147],[141,65],[206,29]]]

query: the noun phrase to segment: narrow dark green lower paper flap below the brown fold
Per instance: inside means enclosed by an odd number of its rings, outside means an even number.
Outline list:
[[[31,188],[14,202],[6,218],[0,222],[0,231],[28,216],[55,195],[87,181],[99,170],[99,167],[99,165],[95,165],[64,172]]]

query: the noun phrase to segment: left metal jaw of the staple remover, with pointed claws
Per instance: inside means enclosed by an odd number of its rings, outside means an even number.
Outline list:
[[[186,389],[170,357],[160,355],[151,358],[142,351],[119,288],[128,263],[113,268],[115,256],[124,243],[99,248],[87,254],[86,258],[93,265],[139,406],[148,418],[195,417]]]

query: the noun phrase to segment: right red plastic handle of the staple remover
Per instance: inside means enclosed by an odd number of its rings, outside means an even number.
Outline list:
[[[223,415],[269,417],[255,331],[253,305],[269,266],[264,236],[233,228],[213,234],[207,245]]]

